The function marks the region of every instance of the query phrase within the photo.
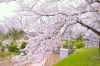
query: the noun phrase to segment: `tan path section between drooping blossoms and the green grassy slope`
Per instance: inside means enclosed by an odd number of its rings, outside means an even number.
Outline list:
[[[60,61],[59,55],[50,54],[44,66],[53,66],[53,64]]]

